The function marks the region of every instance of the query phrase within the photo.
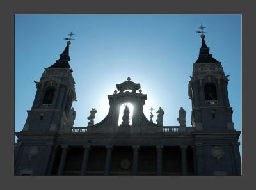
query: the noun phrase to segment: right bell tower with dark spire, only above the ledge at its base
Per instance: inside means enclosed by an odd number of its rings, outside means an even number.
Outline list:
[[[199,58],[193,65],[189,81],[189,97],[192,100],[191,125],[196,131],[233,130],[232,107],[228,100],[228,76],[221,62],[212,58],[201,35]]]

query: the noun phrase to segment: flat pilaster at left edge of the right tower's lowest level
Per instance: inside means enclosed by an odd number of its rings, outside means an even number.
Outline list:
[[[204,175],[203,143],[195,143],[196,148],[196,175]]]

